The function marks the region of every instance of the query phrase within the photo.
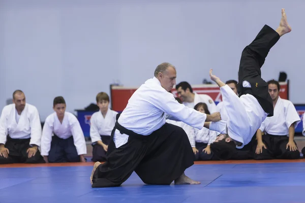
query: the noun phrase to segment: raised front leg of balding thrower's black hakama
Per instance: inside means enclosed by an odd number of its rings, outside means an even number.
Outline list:
[[[146,184],[169,185],[194,164],[194,152],[180,127],[166,124],[156,136],[135,172]]]

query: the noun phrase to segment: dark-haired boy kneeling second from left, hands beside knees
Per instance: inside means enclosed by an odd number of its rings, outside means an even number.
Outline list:
[[[50,163],[85,162],[87,153],[85,137],[76,116],[66,112],[66,101],[62,96],[53,100],[54,113],[43,126],[41,154]]]

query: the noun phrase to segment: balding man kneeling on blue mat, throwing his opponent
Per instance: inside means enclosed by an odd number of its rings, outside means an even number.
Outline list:
[[[206,115],[179,104],[169,91],[176,83],[170,63],[157,66],[154,77],[131,96],[111,133],[104,164],[96,162],[92,187],[115,187],[136,172],[146,184],[199,184],[185,175],[195,155],[186,132],[166,118],[201,129],[204,121],[219,121],[219,113]]]

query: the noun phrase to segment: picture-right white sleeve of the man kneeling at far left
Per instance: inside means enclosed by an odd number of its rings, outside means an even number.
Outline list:
[[[34,144],[40,147],[42,129],[39,113],[36,107],[31,115],[31,118],[29,119],[29,125],[31,126],[31,140],[29,141],[29,144]]]

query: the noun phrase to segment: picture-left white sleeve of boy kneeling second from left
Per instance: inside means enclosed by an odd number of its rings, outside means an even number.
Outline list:
[[[52,133],[53,133],[53,129],[49,124],[49,119],[47,118],[42,128],[41,146],[40,146],[40,151],[42,156],[49,155],[49,151],[51,149],[51,142],[52,142]]]

